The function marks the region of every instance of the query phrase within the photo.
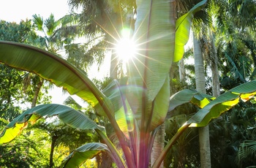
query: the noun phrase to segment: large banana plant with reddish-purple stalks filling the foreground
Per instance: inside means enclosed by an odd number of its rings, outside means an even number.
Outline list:
[[[0,42],[0,62],[13,68],[33,72],[70,94],[76,94],[94,107],[98,115],[108,118],[113,127],[121,153],[107,136],[105,127],[97,125],[83,113],[61,104],[41,104],[26,110],[11,121],[0,135],[0,144],[13,140],[29,123],[42,117],[58,116],[61,121],[76,129],[94,129],[104,141],[88,143],[73,151],[61,167],[78,167],[101,151],[106,151],[118,167],[159,167],[168,150],[189,126],[206,126],[238,99],[249,99],[255,94],[255,81],[228,92],[211,102],[199,93],[185,90],[189,96],[170,101],[169,70],[173,61],[184,53],[183,45],[189,39],[193,15],[206,5],[200,1],[187,14],[175,22],[175,0],[138,0],[134,39],[138,53],[128,62],[129,75],[125,83],[113,80],[100,91],[84,72],[64,59],[37,47],[15,42]],[[249,85],[249,86],[248,86]],[[173,97],[173,98],[174,98]],[[172,99],[173,99],[172,98]],[[151,149],[158,127],[165,121],[167,112],[178,104],[197,102],[203,109],[178,130],[167,143],[159,158],[151,163]],[[186,102],[185,101],[185,102]],[[215,101],[215,102],[214,102]],[[168,110],[169,109],[169,110]]]

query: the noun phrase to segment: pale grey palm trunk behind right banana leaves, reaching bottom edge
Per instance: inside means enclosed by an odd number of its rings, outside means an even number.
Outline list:
[[[200,93],[206,93],[206,80],[203,66],[203,53],[200,42],[193,35],[194,56],[195,56],[195,81],[196,89]],[[211,167],[211,148],[208,126],[199,128],[200,162],[201,168]]]

